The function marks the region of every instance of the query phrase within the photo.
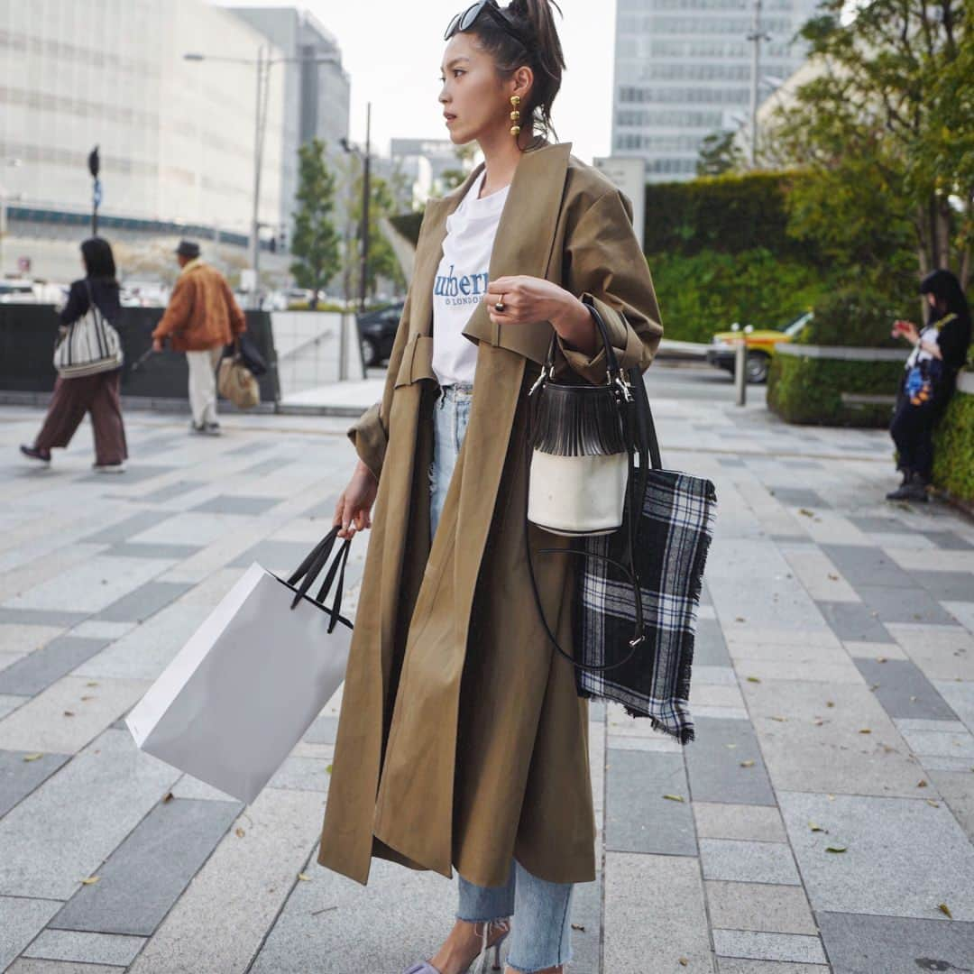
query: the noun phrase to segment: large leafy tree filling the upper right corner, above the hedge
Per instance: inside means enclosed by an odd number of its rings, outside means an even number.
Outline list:
[[[822,70],[772,124],[777,150],[815,177],[792,198],[794,231],[874,281],[909,241],[914,281],[950,267],[966,285],[974,0],[867,0],[843,19],[846,7],[823,0],[803,28]]]

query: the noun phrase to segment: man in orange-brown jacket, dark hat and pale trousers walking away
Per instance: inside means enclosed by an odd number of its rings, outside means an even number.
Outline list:
[[[176,259],[182,270],[166,314],[152,333],[152,348],[162,352],[163,342],[169,339],[174,352],[186,353],[193,410],[190,429],[217,436],[214,370],[223,347],[246,330],[244,312],[223,275],[201,260],[200,244],[180,242]]]

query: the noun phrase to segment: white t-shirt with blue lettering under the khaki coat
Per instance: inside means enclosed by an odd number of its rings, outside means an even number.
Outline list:
[[[487,293],[490,255],[509,186],[478,199],[486,170],[446,218],[443,259],[432,289],[432,370],[441,386],[472,383],[477,346],[462,334]]]

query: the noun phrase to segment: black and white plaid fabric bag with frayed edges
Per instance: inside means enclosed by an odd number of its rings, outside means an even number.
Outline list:
[[[615,700],[683,744],[693,740],[693,636],[716,509],[709,480],[672,470],[649,472],[633,550],[646,640],[621,666],[575,671],[581,696]],[[630,652],[635,606],[621,567],[627,560],[624,535],[584,542],[586,554],[601,556],[585,558],[578,575],[575,646],[578,661],[588,666],[604,666]]]

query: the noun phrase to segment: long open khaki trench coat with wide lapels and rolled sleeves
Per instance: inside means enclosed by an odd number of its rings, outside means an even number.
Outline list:
[[[490,276],[589,294],[624,367],[646,368],[662,328],[628,201],[545,145],[518,163]],[[350,431],[379,476],[321,834],[321,865],[365,883],[373,855],[481,886],[515,857],[534,876],[594,880],[587,702],[538,617],[525,562],[527,392],[547,321],[496,325],[483,303],[463,448],[430,541],[433,277],[446,217],[479,174],[427,206],[382,402]],[[600,382],[605,353],[560,346],[563,370]],[[533,549],[564,540],[531,531]],[[361,542],[359,542],[361,543]],[[570,648],[572,570],[537,557],[547,618]]]

